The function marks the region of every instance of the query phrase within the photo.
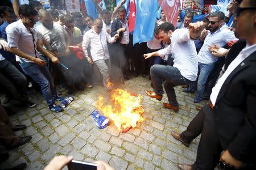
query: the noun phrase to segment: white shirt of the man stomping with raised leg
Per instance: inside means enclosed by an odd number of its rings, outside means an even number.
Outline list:
[[[160,57],[172,53],[174,67],[179,69],[181,75],[191,81],[196,80],[198,70],[196,46],[190,39],[187,28],[176,29],[171,35],[171,44],[158,53]]]

